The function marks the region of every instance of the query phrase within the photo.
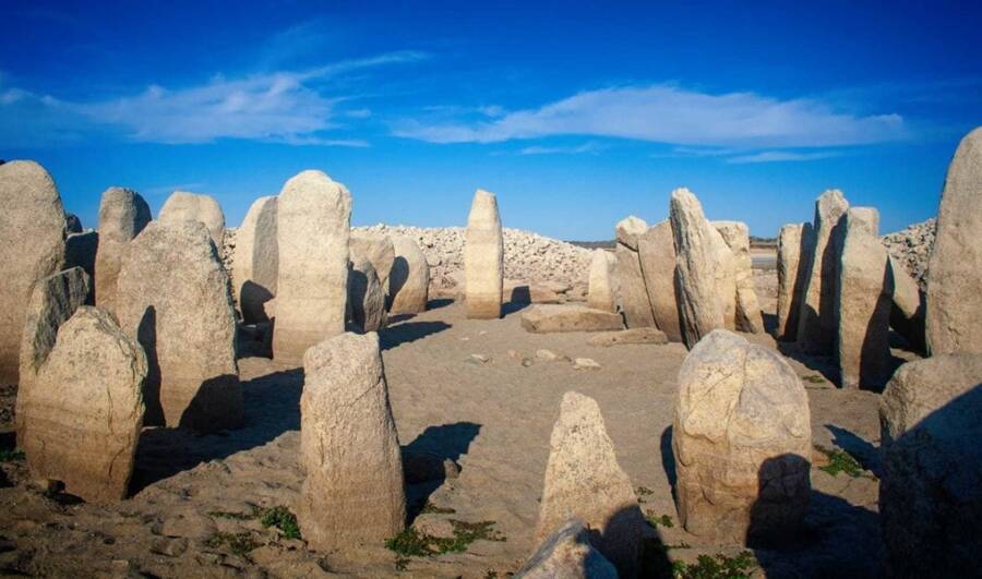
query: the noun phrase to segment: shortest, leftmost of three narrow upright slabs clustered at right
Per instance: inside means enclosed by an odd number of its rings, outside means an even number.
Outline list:
[[[778,236],[778,326],[776,336],[783,341],[798,339],[798,319],[802,295],[812,262],[815,231],[812,224],[791,224],[781,227]]]

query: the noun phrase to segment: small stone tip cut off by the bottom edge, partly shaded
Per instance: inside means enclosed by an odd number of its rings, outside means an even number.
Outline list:
[[[614,566],[590,545],[586,526],[571,519],[539,545],[516,579],[616,579]]]

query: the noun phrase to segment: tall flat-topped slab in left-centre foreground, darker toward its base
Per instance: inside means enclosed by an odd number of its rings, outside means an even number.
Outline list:
[[[395,536],[406,524],[406,492],[379,335],[324,340],[304,354],[303,376],[303,539],[326,551]]]

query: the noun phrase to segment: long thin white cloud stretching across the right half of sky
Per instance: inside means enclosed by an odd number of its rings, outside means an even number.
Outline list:
[[[490,121],[398,125],[398,136],[432,143],[498,143],[591,135],[717,147],[816,147],[907,136],[899,114],[857,116],[814,99],[754,93],[711,95],[671,85],[588,91]]]

